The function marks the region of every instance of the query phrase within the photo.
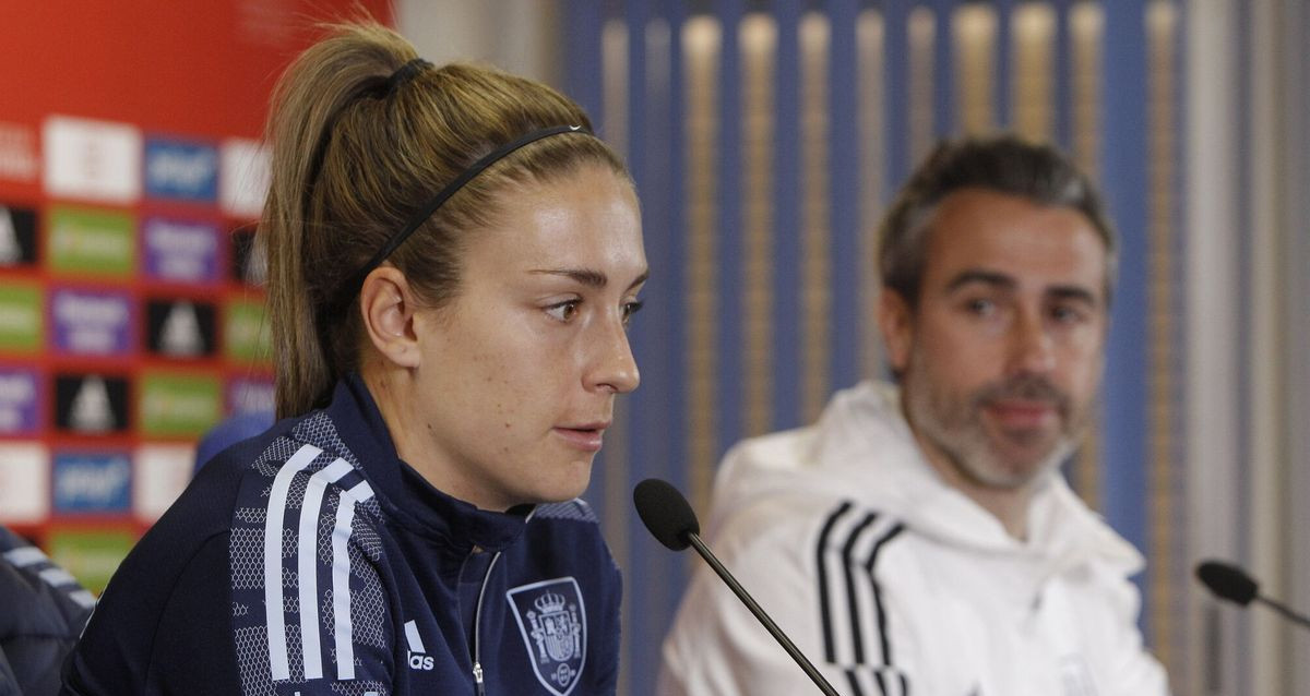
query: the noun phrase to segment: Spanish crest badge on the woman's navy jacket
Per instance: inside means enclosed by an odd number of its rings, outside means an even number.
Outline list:
[[[569,696],[587,663],[587,607],[572,577],[520,585],[504,593],[519,621],[532,671],[555,696]]]

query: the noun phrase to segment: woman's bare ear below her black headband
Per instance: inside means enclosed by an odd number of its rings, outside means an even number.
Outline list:
[[[394,266],[373,268],[359,290],[359,311],[369,343],[383,360],[400,368],[417,368],[419,362],[414,300],[405,273]]]

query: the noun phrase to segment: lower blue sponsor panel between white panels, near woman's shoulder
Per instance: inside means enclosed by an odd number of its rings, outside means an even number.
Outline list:
[[[127,453],[55,453],[55,513],[126,513],[131,476]]]

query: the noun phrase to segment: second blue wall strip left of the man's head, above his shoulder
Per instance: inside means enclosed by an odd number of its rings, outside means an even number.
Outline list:
[[[777,4],[778,58],[774,113],[774,368],[773,429],[800,424],[800,44],[799,3]]]

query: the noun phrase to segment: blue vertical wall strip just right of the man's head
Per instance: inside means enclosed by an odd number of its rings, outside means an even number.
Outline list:
[[[1119,284],[1106,351],[1103,512],[1142,552],[1146,519],[1149,311],[1146,235],[1146,30],[1142,0],[1106,3],[1102,187],[1119,229]],[[1141,582],[1138,577],[1138,582]],[[1142,621],[1149,618],[1142,612]]]

